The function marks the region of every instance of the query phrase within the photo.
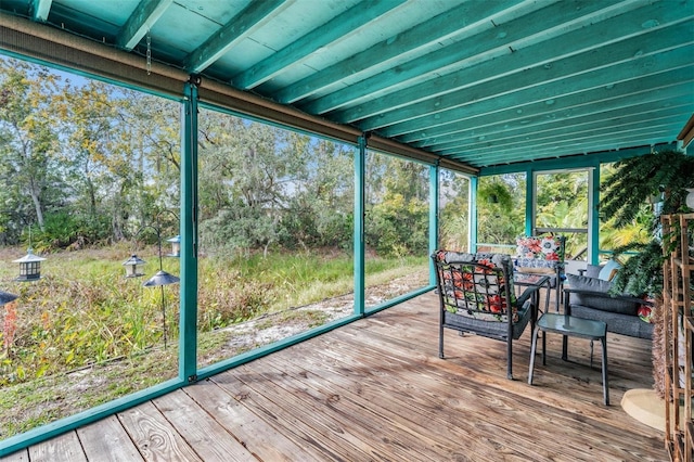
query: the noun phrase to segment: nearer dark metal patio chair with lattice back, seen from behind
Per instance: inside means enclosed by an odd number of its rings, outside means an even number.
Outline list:
[[[440,301],[439,358],[445,357],[444,328],[503,341],[506,376],[513,380],[513,341],[528,323],[535,328],[540,287],[529,286],[516,297],[510,255],[437,251],[432,259]]]

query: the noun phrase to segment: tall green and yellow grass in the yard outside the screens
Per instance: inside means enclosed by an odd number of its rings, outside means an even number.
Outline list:
[[[21,249],[0,249],[0,259],[8,261],[22,254]],[[0,288],[20,295],[12,306],[16,313],[14,337],[9,348],[0,351],[0,438],[177,373],[179,287],[164,291],[169,339],[164,349],[160,291],[142,287],[143,279],[124,277],[121,262],[129,254],[129,249],[116,246],[49,255],[43,278],[33,283],[14,282],[18,268],[0,265]],[[147,277],[158,269],[156,248],[139,249],[138,255],[150,261]],[[423,260],[370,258],[369,284],[421,270]],[[164,269],[178,274],[179,261],[165,259]],[[233,334],[220,328],[264,316],[257,330],[269,323],[320,325],[326,319],[323,312],[290,308],[352,293],[352,272],[351,255],[345,253],[201,258],[201,362],[259,346],[230,347]],[[269,313],[278,316],[267,317]],[[0,308],[0,345],[7,319]]]

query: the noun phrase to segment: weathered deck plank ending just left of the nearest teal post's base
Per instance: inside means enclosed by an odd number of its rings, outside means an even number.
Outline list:
[[[256,461],[250,452],[183,390],[154,400],[156,408],[175,426],[204,461]]]

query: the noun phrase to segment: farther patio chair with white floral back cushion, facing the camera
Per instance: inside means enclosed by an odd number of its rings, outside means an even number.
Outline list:
[[[564,255],[566,238],[563,235],[516,238],[515,270],[523,273],[547,274],[555,292],[555,311],[560,310],[564,286]],[[549,294],[548,294],[549,296]]]

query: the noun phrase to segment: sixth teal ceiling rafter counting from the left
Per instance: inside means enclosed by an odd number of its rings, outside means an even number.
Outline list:
[[[538,2],[538,5],[544,4]],[[473,61],[492,62],[494,59],[511,53],[510,47],[513,47],[515,42],[528,40],[528,37],[543,37],[547,39],[550,36],[548,29],[553,29],[548,24],[548,18],[561,18],[558,24],[570,23],[576,18],[590,16],[589,13],[599,11],[606,4],[608,3],[589,1],[582,8],[576,8],[574,3],[569,2],[553,3],[515,18],[515,21],[500,24],[460,42],[444,47],[438,51],[401,63],[391,69],[350,85],[345,89],[301,104],[300,107],[309,113],[324,114],[344,106],[354,105],[360,101],[371,101],[374,97],[393,92],[394,88],[411,87],[413,82],[422,81],[425,77],[425,82],[435,85],[433,81],[437,80],[437,76],[453,72],[466,72],[474,64]],[[556,30],[555,34],[560,34],[560,31]],[[499,72],[499,69],[494,65],[494,72]],[[440,91],[440,88],[437,91]],[[412,99],[410,94],[409,101],[416,101],[416,98],[421,99],[426,94],[428,93],[420,93],[415,99]],[[349,117],[351,117],[349,114],[351,112],[346,112],[345,115],[337,113],[336,117],[349,120]],[[352,118],[349,121],[354,121],[357,118]]]

